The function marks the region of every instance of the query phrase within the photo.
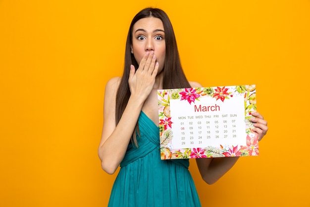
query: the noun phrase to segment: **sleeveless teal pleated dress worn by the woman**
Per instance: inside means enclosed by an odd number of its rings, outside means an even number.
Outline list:
[[[188,159],[161,160],[159,131],[141,111],[138,145],[120,163],[108,207],[201,207]]]

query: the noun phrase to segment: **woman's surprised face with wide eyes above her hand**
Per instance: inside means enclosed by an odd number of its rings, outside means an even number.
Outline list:
[[[132,53],[138,64],[147,51],[154,51],[159,63],[158,73],[162,71],[165,61],[165,32],[160,19],[147,17],[138,20],[132,30]]]

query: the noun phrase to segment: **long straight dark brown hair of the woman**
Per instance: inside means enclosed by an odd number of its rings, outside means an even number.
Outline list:
[[[138,69],[139,64],[137,63],[134,55],[131,53],[130,46],[132,45],[132,29],[133,25],[142,18],[155,17],[162,21],[164,32],[165,32],[165,44],[166,54],[163,68],[163,89],[169,88],[187,88],[191,87],[181,66],[177,43],[173,31],[172,24],[168,15],[159,8],[147,7],[142,9],[133,18],[126,41],[125,48],[125,65],[124,72],[121,78],[117,94],[116,94],[116,110],[115,110],[115,121],[118,124],[130,97],[130,88],[128,84],[130,65],[134,65]],[[136,126],[135,132],[139,132],[138,125]],[[133,141],[137,145],[136,133],[133,134]]]

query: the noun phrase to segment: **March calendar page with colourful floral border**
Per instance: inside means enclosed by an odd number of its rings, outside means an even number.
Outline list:
[[[161,159],[257,156],[256,85],[157,90]]]

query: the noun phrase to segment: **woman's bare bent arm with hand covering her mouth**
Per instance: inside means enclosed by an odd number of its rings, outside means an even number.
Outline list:
[[[155,64],[153,56],[154,53],[147,53],[137,71],[131,66],[128,80],[131,95],[117,126],[115,126],[115,98],[120,78],[112,78],[106,84],[103,132],[98,154],[103,170],[109,174],[113,174],[123,160],[142,106],[153,88],[158,70],[158,64]]]

